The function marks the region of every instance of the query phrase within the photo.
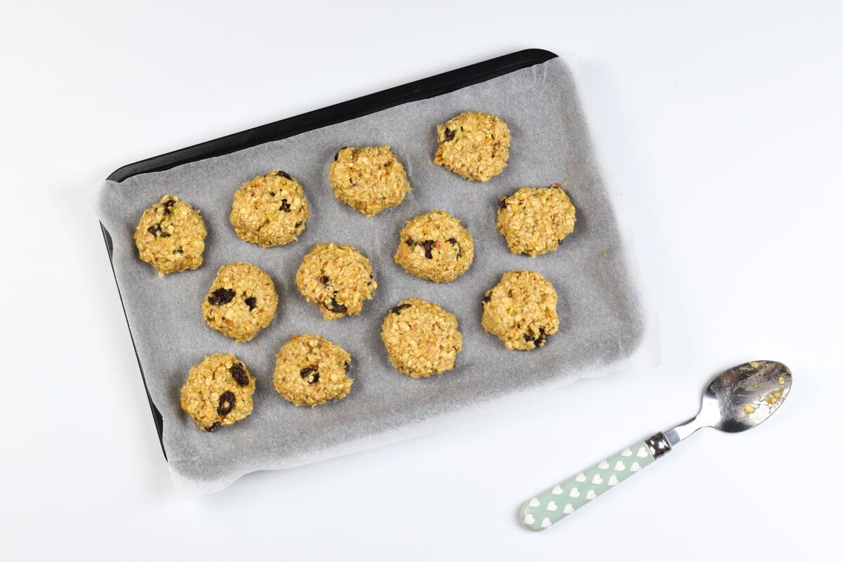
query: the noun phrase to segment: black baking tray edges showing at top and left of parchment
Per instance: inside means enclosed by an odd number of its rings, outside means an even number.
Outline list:
[[[336,125],[346,120],[356,119],[362,115],[369,115],[380,110],[387,110],[396,105],[406,104],[420,99],[428,99],[441,94],[454,92],[459,88],[465,88],[473,84],[485,82],[491,78],[503,76],[522,68],[532,67],[542,62],[556,58],[556,54],[544,49],[525,49],[516,51],[504,56],[497,56],[488,61],[478,62],[468,67],[458,68],[449,72],[443,72],[429,78],[422,78],[416,82],[406,83],[402,86],[389,88],[368,94],[357,99],[350,99],[340,104],[329,105],[320,110],[308,111],[301,115],[288,117],[267,125],[261,125],[246,131],[236,132],[232,135],[221,136],[212,141],[201,142],[192,147],[181,148],[171,153],[161,154],[153,158],[147,158],[136,163],[127,164],[116,169],[107,179],[120,182],[137,174],[148,172],[160,172],[162,170],[175,168],[181,164],[222,156],[223,154],[234,153],[244,148],[255,147],[265,142],[277,141],[288,136],[298,135],[306,131],[319,129],[320,127]],[[109,260],[113,253],[111,235],[105,229],[102,222],[99,223],[105,238],[105,248],[108,250]],[[114,270],[114,263],[111,263],[111,270]],[[117,276],[115,274],[115,282]],[[117,285],[117,292],[120,293],[120,285]],[[121,295],[121,303],[123,297]],[[123,313],[126,313],[126,306],[123,305]],[[128,325],[128,317],[126,324]],[[132,335],[132,326],[129,325],[129,335],[132,337],[132,345],[135,345]],[[137,356],[137,346],[135,346]],[[155,429],[158,430],[158,441],[161,443],[161,451],[164,458],[167,458],[167,451],[164,449],[164,420],[158,408],[153,404],[152,396],[149,395],[147,380],[143,374],[143,366],[140,357],[137,356],[137,366],[140,367],[143,386],[147,389],[149,407],[153,410]]]

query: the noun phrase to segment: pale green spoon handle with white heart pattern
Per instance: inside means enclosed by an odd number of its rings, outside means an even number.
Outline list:
[[[618,454],[536,495],[521,508],[521,522],[534,531],[543,531],[654,460],[656,458],[645,441],[626,447]]]

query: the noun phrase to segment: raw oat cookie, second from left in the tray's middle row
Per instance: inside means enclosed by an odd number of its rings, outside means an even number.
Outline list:
[[[346,244],[316,244],[296,273],[303,297],[319,307],[325,320],[357,315],[378,283],[360,250]]]

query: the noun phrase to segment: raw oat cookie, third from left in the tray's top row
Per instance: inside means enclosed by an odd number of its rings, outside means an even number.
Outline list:
[[[404,201],[410,182],[404,166],[383,147],[345,147],[330,163],[336,198],[367,217]]]

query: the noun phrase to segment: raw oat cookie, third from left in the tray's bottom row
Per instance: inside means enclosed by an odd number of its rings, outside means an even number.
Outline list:
[[[380,337],[392,366],[413,378],[450,371],[463,349],[457,317],[435,302],[416,297],[399,302],[387,313]]]

